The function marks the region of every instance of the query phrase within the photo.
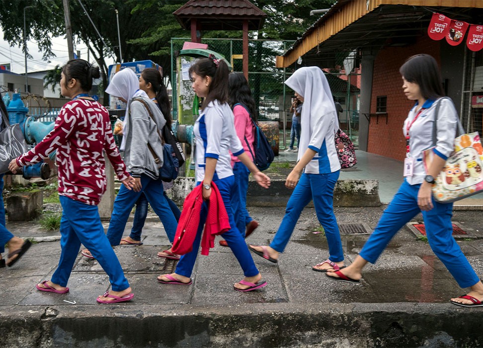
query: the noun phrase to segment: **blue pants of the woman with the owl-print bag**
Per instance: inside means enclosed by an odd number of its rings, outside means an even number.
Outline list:
[[[364,260],[376,262],[402,226],[421,212],[417,205],[419,187],[420,184],[402,182],[359,254]],[[433,209],[422,212],[429,246],[461,287],[475,285],[480,279],[452,236],[453,203],[438,203],[433,199],[433,206]]]

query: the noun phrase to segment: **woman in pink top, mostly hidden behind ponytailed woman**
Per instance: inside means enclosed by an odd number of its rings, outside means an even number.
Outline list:
[[[229,102],[235,116],[235,130],[242,142],[243,150],[253,162],[253,139],[255,136],[253,120],[256,122],[255,100],[251,96],[248,82],[242,73],[231,73],[228,78],[230,91]],[[237,228],[243,238],[247,238],[258,227],[246,210],[246,191],[248,190],[248,176],[250,171],[238,159],[232,156],[233,175],[235,175],[236,194],[232,196],[232,211],[237,222]],[[228,247],[227,241],[221,240],[220,245]]]

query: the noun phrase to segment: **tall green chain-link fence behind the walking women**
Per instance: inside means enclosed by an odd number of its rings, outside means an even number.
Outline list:
[[[189,57],[179,57],[185,41],[191,41],[191,39],[171,39],[173,117],[182,119],[182,123],[192,123],[194,121],[191,117],[194,94],[191,84],[186,76],[181,78],[181,80],[186,79],[184,84],[177,79],[182,75],[183,65],[188,66],[191,60]],[[207,44],[209,50],[222,54],[232,65],[234,72],[242,72],[242,39],[202,39],[202,43]],[[258,109],[258,119],[280,122],[280,129],[286,129],[287,134],[290,134],[292,122],[290,105],[294,92],[283,82],[290,77],[293,69],[275,68],[275,57],[282,56],[293,43],[294,41],[271,40],[249,40],[248,42],[248,82]],[[340,57],[340,65],[343,64],[346,56],[347,54]],[[357,59],[358,57],[355,56],[352,58],[352,66],[356,66]],[[334,72],[324,69],[334,100],[339,102],[344,110],[339,114],[340,126],[351,136],[357,146],[360,93],[360,75],[358,73],[360,71],[357,68],[354,71],[355,73],[351,73],[347,77],[340,73],[340,70]],[[184,114],[189,114],[189,117],[183,118]],[[290,138],[290,135],[288,137]],[[284,144],[284,140],[285,137],[281,137],[280,143]]]

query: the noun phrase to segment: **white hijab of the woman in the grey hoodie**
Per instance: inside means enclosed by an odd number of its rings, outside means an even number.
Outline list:
[[[129,68],[117,72],[111,82],[106,88],[106,92],[117,97],[127,100],[126,113],[124,115],[123,129],[129,119],[129,107],[131,100],[136,96],[143,96],[149,99],[148,94],[142,89],[139,89],[139,78],[136,73]],[[124,151],[126,145],[126,137],[122,137],[120,150]]]

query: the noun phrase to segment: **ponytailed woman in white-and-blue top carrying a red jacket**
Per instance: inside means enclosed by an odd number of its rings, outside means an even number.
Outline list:
[[[200,247],[201,235],[207,219],[207,200],[212,195],[212,181],[217,185],[228,214],[231,229],[222,234],[232,249],[235,257],[242,266],[245,277],[234,284],[235,290],[252,291],[266,285],[251,258],[243,236],[236,227],[231,208],[231,196],[234,192],[234,176],[231,166],[230,151],[238,156],[242,163],[253,173],[258,184],[262,187],[270,185],[270,179],[258,171],[248,156],[243,152],[240,139],[234,126],[233,112],[228,105],[228,66],[216,59],[200,59],[189,70],[192,87],[195,93],[204,98],[202,111],[195,122],[196,137],[195,163],[196,181],[202,184],[203,205],[200,222],[193,242],[193,250],[181,256],[175,273],[158,277],[163,284],[189,285],[191,273]],[[214,193],[213,193],[214,194]]]

